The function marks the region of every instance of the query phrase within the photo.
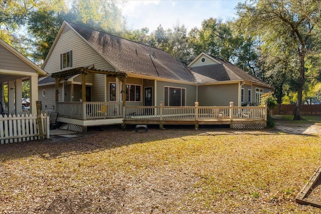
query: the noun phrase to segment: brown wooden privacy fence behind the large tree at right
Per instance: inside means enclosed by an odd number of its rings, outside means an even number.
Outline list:
[[[272,114],[285,114],[285,115],[293,115],[293,111],[295,108],[295,104],[289,105],[281,105],[281,111],[279,112],[279,105],[275,109],[273,109]],[[302,116],[321,116],[321,105],[302,105],[301,106],[301,115]]]

